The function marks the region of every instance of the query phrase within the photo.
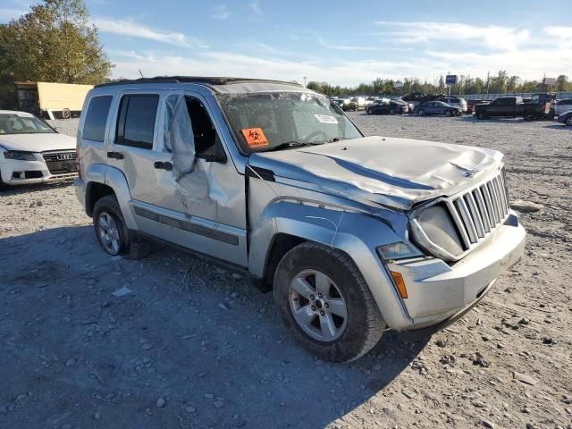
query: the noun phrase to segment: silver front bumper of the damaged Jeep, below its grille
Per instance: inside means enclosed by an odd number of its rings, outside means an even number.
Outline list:
[[[510,211],[483,245],[455,264],[423,258],[387,265],[403,277],[408,298],[403,304],[413,323],[398,329],[438,324],[466,308],[474,307],[492,283],[524,254],[526,231]]]

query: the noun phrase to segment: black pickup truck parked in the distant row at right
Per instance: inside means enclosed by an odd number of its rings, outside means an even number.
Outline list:
[[[522,97],[501,97],[492,100],[491,103],[475,105],[475,115],[478,119],[489,116],[522,117],[528,121],[541,119],[550,113],[550,103],[533,100],[524,103]]]

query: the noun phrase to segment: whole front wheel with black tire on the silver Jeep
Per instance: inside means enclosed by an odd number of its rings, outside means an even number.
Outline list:
[[[292,248],[276,269],[273,295],[289,332],[324,361],[355,360],[382,337],[374,297],[341,250],[311,242]]]

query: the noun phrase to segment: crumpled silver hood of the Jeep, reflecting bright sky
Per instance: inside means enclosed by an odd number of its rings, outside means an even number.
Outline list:
[[[271,170],[277,181],[283,177],[307,182],[307,189],[408,210],[420,201],[467,188],[498,168],[501,160],[501,152],[492,149],[366,137],[258,152],[248,164]]]

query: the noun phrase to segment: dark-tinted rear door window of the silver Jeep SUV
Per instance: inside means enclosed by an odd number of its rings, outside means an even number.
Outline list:
[[[158,103],[156,94],[123,96],[115,144],[152,149]]]

